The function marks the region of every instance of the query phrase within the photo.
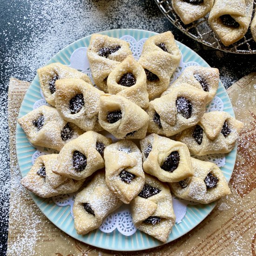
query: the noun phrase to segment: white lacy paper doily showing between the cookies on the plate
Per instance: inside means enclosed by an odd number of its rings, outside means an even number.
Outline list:
[[[132,36],[124,35],[121,37],[121,39],[129,42],[130,49],[133,53],[133,56],[135,57],[136,60],[138,60],[139,57],[141,56],[143,44],[145,43],[147,38],[143,38],[137,42],[135,40],[135,38],[133,38]],[[93,81],[89,61],[87,58],[87,49],[88,49],[87,47],[81,47],[81,48],[76,49],[71,54],[69,67],[73,67],[73,68],[80,70],[81,72],[87,74],[89,76],[89,78],[91,79],[91,81]],[[180,76],[180,74],[182,74],[183,70],[189,66],[200,66],[200,65],[194,61],[184,63],[183,56],[182,56],[179,66],[177,67],[177,69],[175,70],[174,74],[171,77],[170,84],[173,83]],[[42,99],[40,99],[39,101],[36,101],[34,103],[34,109],[39,108],[42,105],[49,106],[49,104],[47,104],[47,102],[45,101],[42,91],[41,91],[41,96],[42,96]],[[216,110],[217,111],[223,110],[223,102],[217,96],[215,96],[213,101],[208,104],[208,106],[206,108],[206,112],[216,111]],[[37,151],[32,156],[33,164],[34,164],[35,159],[40,155],[56,153],[56,151],[54,151],[52,149],[41,148],[38,146],[36,146],[36,148],[37,148]],[[203,157],[193,155],[193,157],[195,157],[197,159],[204,160],[204,161],[214,162],[219,167],[221,167],[225,164],[225,155],[223,155],[223,154],[205,155]],[[76,195],[76,193],[57,195],[57,196],[53,196],[52,199],[53,199],[54,203],[57,204],[58,206],[64,207],[64,206],[69,205],[70,209],[71,209],[70,210],[71,215],[72,215],[72,217],[74,217],[73,216],[73,204],[74,204],[75,195]],[[186,215],[188,204],[197,204],[197,203],[177,199],[175,197],[173,198],[173,208],[174,208],[177,223],[182,222],[182,219]],[[107,216],[105,218],[105,220],[102,222],[99,229],[104,233],[111,233],[112,231],[117,229],[124,236],[133,235],[136,232],[136,228],[132,222],[132,217],[131,217],[131,213],[129,210],[129,206],[124,204],[117,211],[115,211],[115,212],[111,213],[109,216]]]

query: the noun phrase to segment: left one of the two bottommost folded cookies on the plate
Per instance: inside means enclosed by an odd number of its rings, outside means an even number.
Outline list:
[[[108,189],[104,171],[98,172],[74,199],[74,227],[77,234],[85,235],[97,229],[104,218],[121,204],[122,201]]]

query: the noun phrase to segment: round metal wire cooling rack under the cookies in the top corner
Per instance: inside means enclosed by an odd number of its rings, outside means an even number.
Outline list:
[[[192,39],[201,42],[209,47],[236,54],[256,54],[256,42],[252,39],[250,27],[242,39],[230,46],[224,46],[221,40],[211,29],[208,23],[207,14],[205,17],[185,25],[179,16],[175,13],[171,0],[155,0],[162,13],[170,20],[175,27],[180,29]],[[256,9],[256,0],[254,0],[253,13]]]

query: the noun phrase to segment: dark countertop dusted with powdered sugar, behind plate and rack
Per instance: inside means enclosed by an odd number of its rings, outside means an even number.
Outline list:
[[[226,88],[256,71],[256,55],[226,54],[175,28],[154,0],[0,0],[0,255],[5,255],[10,188],[7,90],[10,77],[32,81],[36,69],[83,36],[114,28],[171,30],[175,39],[220,70]],[[15,125],[15,124],[14,124]]]

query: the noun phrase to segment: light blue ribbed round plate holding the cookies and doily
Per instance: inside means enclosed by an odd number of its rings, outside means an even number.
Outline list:
[[[100,34],[106,34],[108,36],[118,38],[123,35],[131,35],[138,41],[142,38],[148,38],[152,35],[155,35],[156,33],[136,29],[115,29],[104,31]],[[90,39],[91,36],[87,36],[65,47],[50,61],[48,61],[47,64],[53,62],[61,62],[62,64],[69,65],[70,56],[74,52],[74,50],[79,47],[88,47]],[[184,63],[188,61],[195,61],[203,67],[209,67],[209,65],[189,47],[186,47],[180,42],[177,42],[177,44],[182,51]],[[216,95],[221,98],[224,103],[223,111],[226,111],[230,115],[235,116],[231,102],[229,100],[229,96],[221,82],[219,83]],[[19,118],[33,110],[34,102],[40,99],[40,85],[38,75],[36,75],[30,87],[28,88],[24,100],[21,104]],[[31,146],[19,124],[17,124],[16,130],[16,149],[20,172],[23,177],[32,167],[31,157],[36,149]],[[228,181],[230,180],[230,177],[232,175],[235,162],[236,148],[234,148],[229,154],[226,154],[226,163],[221,168]],[[88,243],[90,245],[103,249],[120,251],[149,249],[163,244],[160,243],[158,240],[154,239],[153,237],[148,236],[143,232],[140,232],[139,230],[137,230],[132,236],[123,236],[116,229],[114,232],[109,234],[103,233],[99,229],[96,229],[90,232],[88,235],[77,235],[74,229],[74,220],[70,214],[69,206],[59,207],[51,199],[44,199],[32,193],[30,193],[30,195],[32,196],[34,202],[37,204],[40,210],[44,213],[45,216],[47,216],[47,218],[51,222],[53,222],[58,228],[66,232],[69,236],[72,236],[84,243]],[[202,222],[202,220],[209,215],[209,213],[212,211],[212,209],[214,209],[215,206],[216,202],[212,202],[207,205],[188,205],[186,216],[181,223],[175,224],[166,243],[177,239],[178,237],[186,234],[189,230],[195,228],[197,224]]]

